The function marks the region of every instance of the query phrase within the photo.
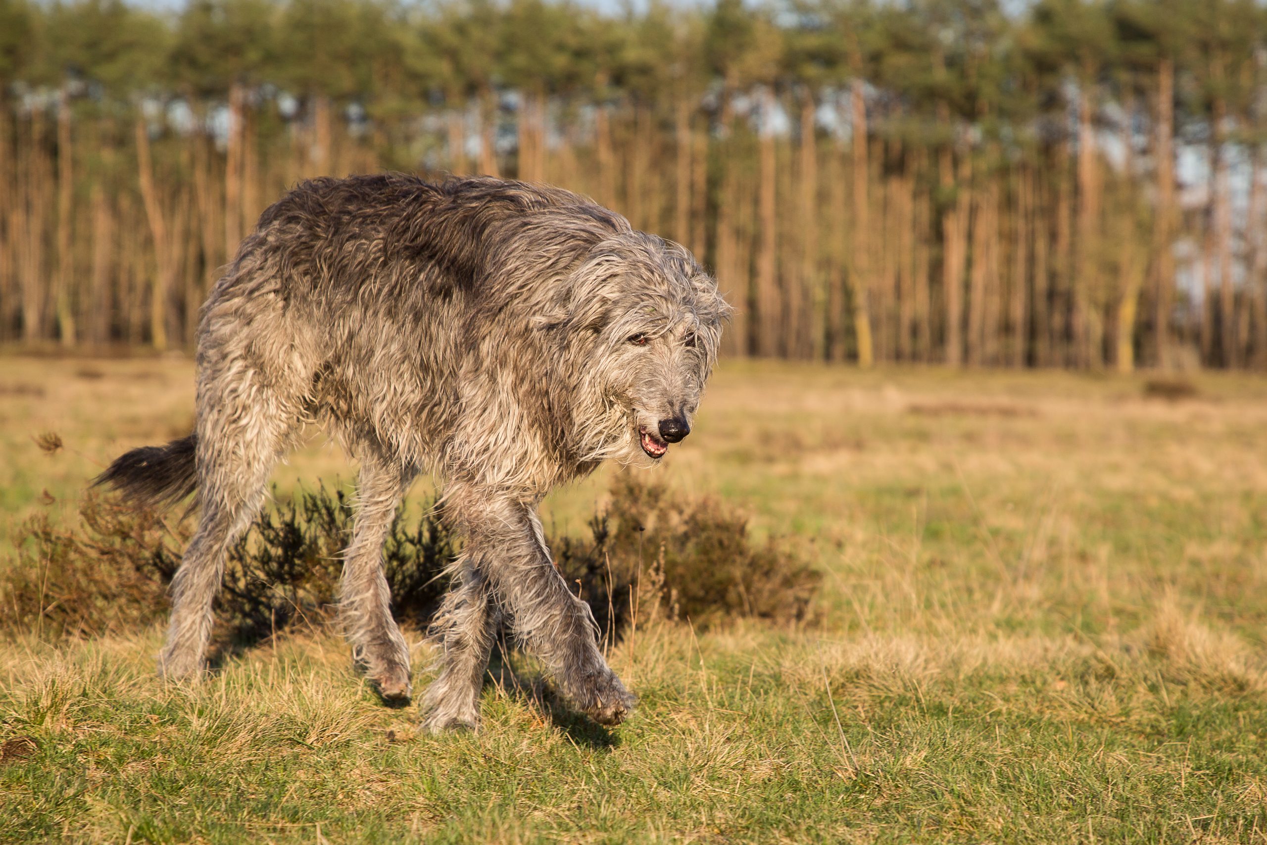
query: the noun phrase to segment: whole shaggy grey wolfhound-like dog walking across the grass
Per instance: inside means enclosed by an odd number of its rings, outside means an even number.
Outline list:
[[[148,507],[198,492],[162,674],[203,670],[228,549],[315,419],[361,464],[340,608],[384,698],[411,684],[381,547],[432,471],[465,543],[432,628],[443,658],[427,726],[476,725],[503,618],[584,712],[621,722],[634,698],[555,570],[537,505],[606,459],[650,464],[689,433],[727,310],[687,250],[564,190],[399,174],[302,184],[203,307],[194,433],[98,479]]]

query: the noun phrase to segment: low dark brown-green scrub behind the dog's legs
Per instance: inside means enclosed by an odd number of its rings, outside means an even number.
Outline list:
[[[266,508],[234,545],[217,600],[222,645],[260,641],[295,622],[332,621],[352,505],[340,490],[303,492]],[[138,513],[90,493],[70,531],[37,518],[0,580],[4,627],[90,635],[161,618],[190,519]],[[818,575],[775,545],[754,546],[745,519],[712,499],[685,500],[627,475],[588,537],[550,540],[555,565],[618,635],[634,612],[773,621],[808,613]],[[397,618],[424,627],[449,588],[455,538],[432,505],[402,511],[384,549]],[[641,606],[641,607],[640,607]]]

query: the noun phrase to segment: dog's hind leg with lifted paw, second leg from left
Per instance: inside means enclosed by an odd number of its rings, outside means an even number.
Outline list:
[[[345,552],[340,616],[352,658],[389,703],[409,699],[409,646],[392,618],[383,542],[417,469],[369,457],[361,464],[352,542]]]

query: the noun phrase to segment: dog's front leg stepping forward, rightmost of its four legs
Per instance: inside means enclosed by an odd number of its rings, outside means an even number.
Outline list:
[[[598,650],[589,606],[554,568],[535,505],[466,488],[450,490],[445,502],[466,536],[468,565],[488,580],[519,641],[590,718],[622,722],[635,699]]]

